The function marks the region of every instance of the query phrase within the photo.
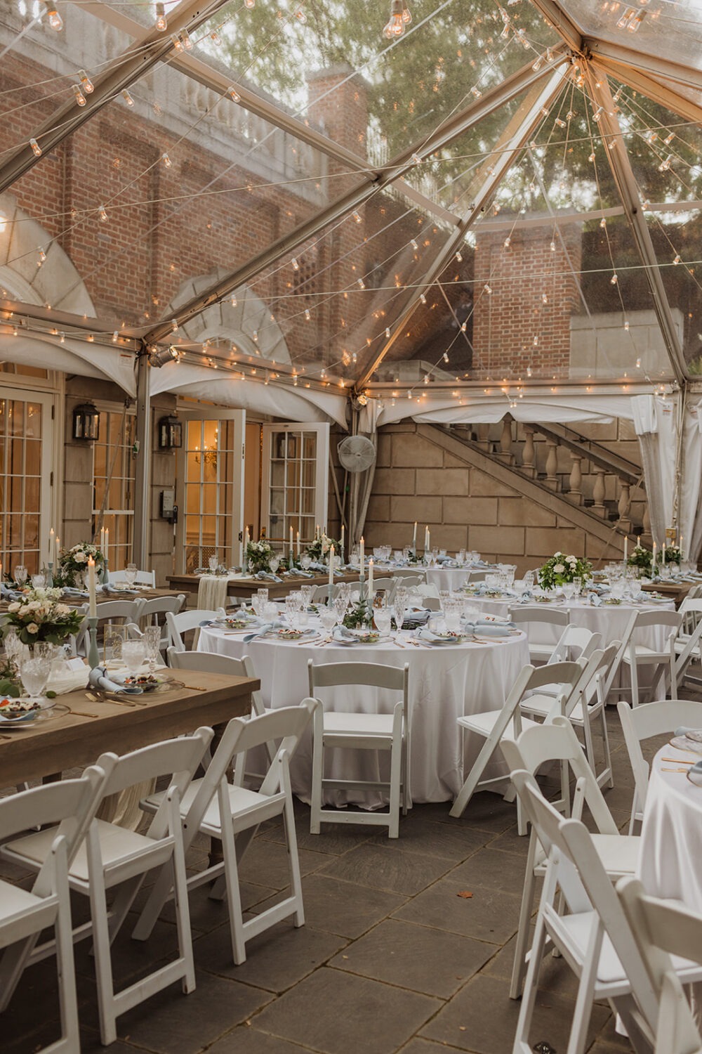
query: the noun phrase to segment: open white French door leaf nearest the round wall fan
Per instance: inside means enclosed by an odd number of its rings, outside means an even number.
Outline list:
[[[304,545],[326,527],[328,464],[328,425],[263,426],[261,524],[274,542],[293,528]]]

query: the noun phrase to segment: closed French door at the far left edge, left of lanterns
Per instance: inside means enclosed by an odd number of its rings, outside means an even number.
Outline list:
[[[29,574],[48,559],[54,396],[0,389],[0,557]]]

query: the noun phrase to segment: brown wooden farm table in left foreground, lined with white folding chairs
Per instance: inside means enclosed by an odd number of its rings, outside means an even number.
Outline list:
[[[169,670],[168,676],[185,687],[124,697],[125,702],[139,699],[144,706],[96,702],[84,690],[69,691],[57,703],[72,713],[6,734],[0,729],[0,787],[91,765],[105,750],[125,754],[200,725],[244,717],[250,714],[252,692],[261,686],[253,678],[195,670]]]

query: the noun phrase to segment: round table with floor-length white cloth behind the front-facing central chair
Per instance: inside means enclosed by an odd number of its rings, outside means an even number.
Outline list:
[[[373,662],[389,666],[409,664],[409,710],[412,742],[409,755],[409,789],[417,802],[450,801],[463,785],[464,772],[478,756],[482,740],[465,736],[461,750],[461,735],[457,718],[498,709],[504,703],[513,683],[528,662],[528,646],[524,633],[490,641],[485,644],[461,643],[450,646],[419,647],[407,642],[404,635],[398,646],[390,638],[375,645],[325,644],[253,640],[245,644],[243,635],[202,627],[199,651],[215,651],[240,659],[249,655],[257,676],[261,679],[263,701],[267,707],[297,705],[308,695],[307,661]],[[347,708],[368,714],[387,713],[387,700],[367,687],[335,689],[325,692],[325,702],[335,708]],[[335,767],[348,779],[383,778],[388,758],[372,750],[333,752],[332,777]],[[384,752],[383,752],[384,754]],[[343,770],[341,765],[343,764]],[[380,765],[380,769],[378,766]],[[493,762],[492,775],[505,772],[501,759]],[[381,773],[381,776],[373,775]],[[290,765],[293,789],[304,797],[309,794],[312,776],[312,738],[301,742]],[[339,804],[356,798],[337,797]],[[378,800],[363,804],[380,804]]]

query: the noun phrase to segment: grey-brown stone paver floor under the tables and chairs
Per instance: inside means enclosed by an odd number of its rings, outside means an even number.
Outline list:
[[[633,780],[616,711],[608,719],[617,785],[606,797],[623,827]],[[448,808],[415,806],[400,838],[388,842],[363,826],[325,826],[310,836],[308,811],[299,804],[306,924],[278,924],[252,940],[247,961],[235,967],[226,907],[198,889],[190,898],[197,990],[183,996],[173,985],[120,1018],[112,1054],[509,1054],[519,1013],[508,998],[512,938],[527,840],[517,836],[514,803],[495,794],[476,796],[460,820]],[[281,896],[281,839],[280,825],[268,825],[242,861],[248,912]],[[201,844],[188,865],[204,859]],[[6,864],[2,871],[26,881]],[[83,902],[75,914],[84,919]],[[114,951],[118,985],[134,980],[146,959],[153,964],[174,949],[172,910],[146,944],[124,926]],[[82,1050],[92,1054],[103,1048],[86,942],[77,946],[76,969]],[[569,970],[548,957],[533,1043],[565,1050],[574,1000]],[[55,1038],[57,1013],[48,959],[25,972],[2,1015],[3,1054],[32,1054]],[[608,1006],[597,1004],[589,1054],[628,1050]]]

